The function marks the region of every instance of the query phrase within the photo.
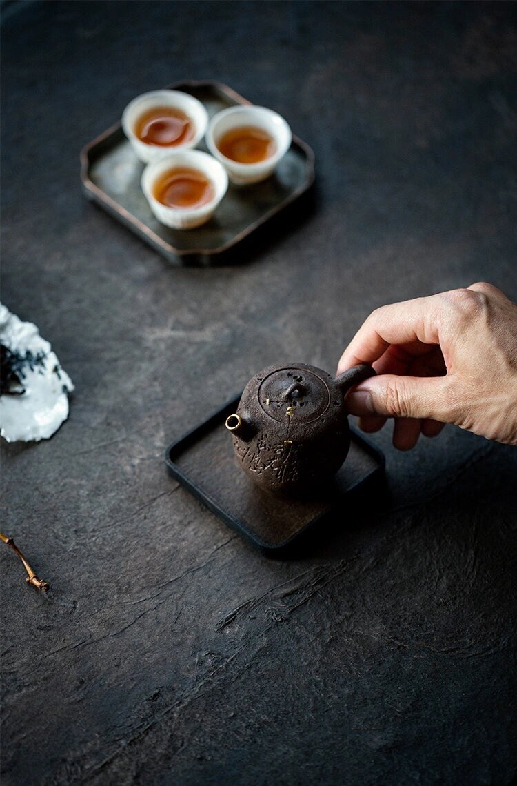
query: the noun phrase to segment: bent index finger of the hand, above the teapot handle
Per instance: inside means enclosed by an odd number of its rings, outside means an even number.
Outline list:
[[[435,303],[435,296],[420,297],[372,311],[341,355],[337,373],[376,361],[391,344],[439,343]]]

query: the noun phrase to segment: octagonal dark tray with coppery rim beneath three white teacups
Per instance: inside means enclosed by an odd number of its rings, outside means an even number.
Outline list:
[[[198,98],[209,116],[237,104],[249,104],[218,82],[179,82],[170,89]],[[204,143],[199,145],[205,149]],[[217,255],[231,248],[301,196],[314,182],[314,153],[293,135],[291,148],[272,177],[254,185],[229,185],[213,218],[193,230],[172,230],[152,214],[140,187],[144,164],[135,156],[120,123],[91,141],[81,152],[81,180],[90,200],[138,234],[171,262],[181,257]]]

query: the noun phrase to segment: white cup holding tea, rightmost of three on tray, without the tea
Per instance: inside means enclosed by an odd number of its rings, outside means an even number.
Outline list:
[[[224,156],[218,143],[229,131],[238,128],[258,128],[264,131],[274,142],[274,150],[270,156],[254,163],[241,163]],[[283,158],[291,145],[292,134],[284,118],[262,106],[234,106],[223,109],[211,119],[207,129],[207,147],[212,156],[222,163],[233,183],[244,185],[257,183],[270,177],[278,162]]]

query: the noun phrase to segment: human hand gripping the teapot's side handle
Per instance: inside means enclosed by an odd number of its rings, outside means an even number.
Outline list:
[[[372,363],[378,376],[352,388],[348,410],[365,432],[396,418],[399,450],[446,423],[517,445],[517,306],[497,287],[473,284],[376,309],[338,373],[358,363]]]

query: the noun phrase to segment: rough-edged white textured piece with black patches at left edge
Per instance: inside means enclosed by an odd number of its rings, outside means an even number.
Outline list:
[[[7,442],[48,439],[68,417],[74,385],[48,341],[0,303],[0,343],[20,355],[21,395],[0,395],[0,435]]]

